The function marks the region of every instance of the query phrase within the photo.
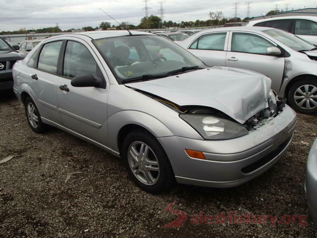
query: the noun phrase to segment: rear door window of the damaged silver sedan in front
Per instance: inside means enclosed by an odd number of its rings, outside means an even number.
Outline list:
[[[57,62],[61,43],[61,41],[55,41],[43,46],[39,56],[39,69],[57,73]]]

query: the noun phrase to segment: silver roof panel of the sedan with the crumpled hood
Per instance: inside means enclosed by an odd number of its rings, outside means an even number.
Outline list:
[[[155,35],[149,32],[145,31],[130,31],[132,35]],[[106,37],[117,37],[117,36],[128,36],[130,35],[127,30],[109,30],[109,31],[85,31],[85,32],[79,32],[79,33],[73,33],[69,35],[84,35],[92,38],[93,40],[106,38]],[[67,36],[69,36],[67,34]],[[64,35],[66,36],[66,35]]]

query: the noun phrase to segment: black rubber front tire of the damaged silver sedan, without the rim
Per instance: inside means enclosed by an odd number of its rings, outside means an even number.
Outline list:
[[[138,179],[137,175],[135,175],[132,171],[131,164],[129,163],[128,154],[130,146],[134,145],[134,143],[139,142],[142,142],[150,147],[151,152],[149,153],[153,152],[156,157],[155,159],[157,159],[158,161],[159,176],[158,180],[154,184],[145,184],[140,179]],[[169,190],[175,183],[174,173],[164,149],[159,144],[159,141],[148,131],[142,129],[131,131],[123,140],[121,154],[130,178],[143,190],[150,193],[158,194]],[[142,175],[142,173],[140,173],[140,175]]]

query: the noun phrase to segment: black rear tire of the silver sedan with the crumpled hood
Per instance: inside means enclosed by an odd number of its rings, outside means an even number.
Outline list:
[[[34,121],[32,121],[32,119],[30,119],[30,117],[29,117],[29,112],[28,112],[29,106],[30,107],[34,107],[34,113],[35,113],[34,115],[36,116],[36,118],[38,120],[36,125],[34,124]],[[40,116],[39,110],[36,107],[36,105],[35,105],[34,101],[32,100],[32,98],[27,97],[25,99],[24,108],[25,108],[25,116],[26,116],[26,119],[27,119],[31,129],[34,132],[39,133],[39,134],[46,132],[47,129],[48,129],[48,125],[43,123],[43,121],[41,120],[41,116]]]

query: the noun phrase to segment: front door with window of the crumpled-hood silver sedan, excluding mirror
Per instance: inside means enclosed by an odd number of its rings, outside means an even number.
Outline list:
[[[106,144],[107,98],[110,86],[109,83],[106,86],[106,72],[85,41],[67,40],[64,47],[60,84],[57,87],[58,107],[63,126]],[[101,78],[104,86],[97,88],[71,85],[73,77],[87,74]],[[60,86],[67,90],[59,88]]]

